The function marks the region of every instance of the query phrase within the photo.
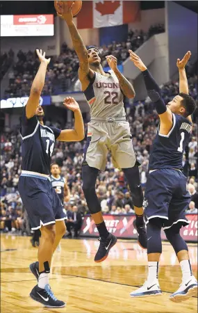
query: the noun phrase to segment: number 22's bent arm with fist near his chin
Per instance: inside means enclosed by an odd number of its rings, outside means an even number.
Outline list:
[[[117,76],[117,79],[119,81],[119,86],[122,89],[122,93],[129,99],[135,97],[135,90],[133,88],[133,85],[126,79],[121,72],[119,72],[117,68],[117,58],[115,56],[106,56],[106,60],[108,62],[109,67],[113,72],[115,72],[115,75]]]

